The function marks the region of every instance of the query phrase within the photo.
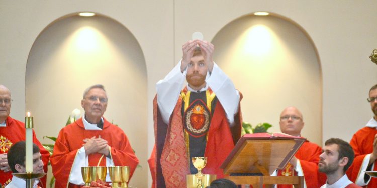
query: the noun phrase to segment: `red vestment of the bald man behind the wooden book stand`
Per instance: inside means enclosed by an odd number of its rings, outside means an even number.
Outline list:
[[[301,168],[304,172],[306,187],[321,187],[326,183],[326,174],[318,172],[319,155],[322,149],[317,144],[306,140],[296,153],[296,158],[300,160]],[[278,171],[278,175],[297,176],[294,167],[288,163],[287,167]],[[292,188],[292,185],[278,185],[278,188]]]

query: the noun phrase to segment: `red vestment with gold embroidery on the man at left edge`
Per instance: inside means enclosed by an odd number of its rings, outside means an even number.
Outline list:
[[[0,154],[8,153],[9,148],[19,141],[25,141],[25,124],[21,121],[8,116],[6,120],[6,127],[0,127]],[[44,171],[47,172],[47,163],[50,153],[43,148],[42,144],[37,140],[33,130],[33,142],[39,147],[44,164]],[[0,170],[0,184],[4,188],[12,180],[12,171],[4,173]],[[40,186],[46,187],[46,176],[41,178]]]

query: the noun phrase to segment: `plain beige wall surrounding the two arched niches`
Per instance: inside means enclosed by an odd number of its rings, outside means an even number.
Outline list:
[[[330,137],[349,140],[372,115],[365,98],[370,86],[377,82],[377,67],[368,59],[372,49],[377,48],[377,25],[373,24],[377,18],[376,5],[375,1],[300,0],[1,1],[0,82],[12,91],[11,115],[23,119],[26,62],[40,32],[55,19],[70,13],[93,11],[106,15],[134,35],[144,54],[148,105],[145,127],[149,128],[146,135],[129,137],[135,147],[141,137],[146,137],[150,152],[154,141],[151,128],[154,84],[180,59],[181,45],[195,31],[212,40],[231,21],[255,11],[270,11],[299,24],[318,50],[323,81],[322,141]],[[55,102],[57,106],[62,103]],[[65,118],[66,114],[62,116]],[[35,130],[38,133],[41,129]],[[38,134],[40,140],[42,136]],[[149,152],[138,155],[146,158]],[[141,161],[141,165],[147,168],[146,161]],[[134,178],[146,180],[147,171]]]

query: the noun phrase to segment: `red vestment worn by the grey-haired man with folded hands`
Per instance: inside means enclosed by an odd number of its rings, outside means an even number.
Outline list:
[[[103,130],[85,130],[82,118],[62,128],[56,140],[54,153],[51,156],[52,173],[56,178],[55,187],[81,187],[68,183],[72,164],[77,151],[84,144],[85,138],[95,136],[108,141],[111,159],[115,166],[129,166],[130,177],[139,160],[133,152],[126,134],[118,126],[104,119]],[[94,153],[88,156],[89,166],[106,166],[106,158],[102,154]],[[100,161],[101,160],[101,161]]]

